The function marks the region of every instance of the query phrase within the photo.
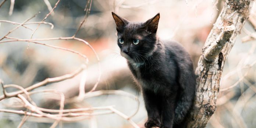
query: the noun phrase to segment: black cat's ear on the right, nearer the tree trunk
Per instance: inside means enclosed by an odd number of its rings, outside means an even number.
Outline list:
[[[156,14],[153,18],[147,20],[144,25],[145,29],[149,31],[150,33],[156,33],[157,27],[158,27],[158,22],[160,19],[160,13]]]

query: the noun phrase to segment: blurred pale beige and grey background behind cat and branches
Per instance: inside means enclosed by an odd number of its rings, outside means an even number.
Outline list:
[[[53,7],[57,0],[49,0]],[[123,90],[139,98],[138,113],[132,120],[143,127],[146,121],[146,110],[139,87],[132,80],[126,61],[120,56],[117,46],[115,23],[111,12],[115,12],[129,21],[145,22],[160,12],[158,35],[163,40],[180,42],[190,53],[194,67],[202,51],[203,44],[213,23],[220,13],[224,0],[93,0],[88,19],[82,25],[76,37],[84,39],[96,50],[100,58],[100,83],[96,90]],[[42,24],[33,38],[71,37],[79,27],[85,15],[86,0],[61,0],[45,21],[54,25]],[[0,20],[10,20],[22,23],[37,12],[41,12],[30,22],[41,21],[49,10],[44,0],[16,0],[13,14],[9,15],[10,0],[0,8]],[[232,48],[221,79],[220,89],[234,86],[227,91],[221,91],[217,99],[217,110],[210,119],[207,128],[254,128],[256,126],[256,41],[248,34],[255,32],[253,8],[250,22],[246,22],[241,35]],[[0,37],[17,25],[1,22]],[[26,25],[34,30],[37,25]],[[33,31],[20,27],[11,33],[10,37],[29,39]],[[85,90],[89,91],[96,83],[100,74],[97,58],[93,51],[75,40],[40,41],[46,44],[76,50],[89,58],[86,76],[78,75],[63,82],[48,84],[38,88],[55,89],[65,94],[65,98],[78,95],[81,77],[86,77]],[[4,84],[17,84],[28,87],[46,78],[68,74],[77,69],[85,60],[67,51],[49,48],[28,42],[7,42],[0,44],[0,79]],[[1,88],[2,90],[2,88]],[[15,91],[8,88],[8,92]],[[3,95],[2,91],[0,94]],[[31,96],[38,106],[58,109],[58,95],[39,93]],[[86,98],[83,102],[65,103],[65,108],[87,108],[92,106],[115,105],[115,108],[126,115],[136,112],[137,102],[119,95],[100,95]],[[0,102],[0,108],[26,110],[16,105],[15,101],[7,99]],[[0,112],[0,128],[14,128],[21,122],[18,114]],[[29,117],[23,128],[50,127],[52,120]],[[78,122],[62,122],[57,127],[63,128],[131,128],[127,120],[117,114],[92,116]]]

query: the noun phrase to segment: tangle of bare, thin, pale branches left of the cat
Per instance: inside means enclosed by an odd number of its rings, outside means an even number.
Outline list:
[[[0,7],[5,1],[6,0],[3,0],[0,3]],[[33,38],[33,35],[38,30],[38,28],[41,24],[50,25],[51,29],[53,29],[53,27],[54,27],[52,23],[45,22],[45,20],[47,19],[47,17],[49,15],[54,14],[54,9],[60,3],[60,0],[58,0],[56,2],[54,7],[51,7],[48,0],[44,0],[44,1],[47,5],[47,8],[49,9],[49,13],[40,22],[29,22],[29,20],[35,18],[36,15],[38,15],[40,12],[33,15],[31,18],[26,19],[22,23],[12,22],[12,21],[8,21],[8,20],[0,20],[0,22],[6,22],[6,23],[12,23],[14,25],[18,25],[14,29],[10,30],[6,35],[4,35],[3,37],[0,38],[0,44],[10,43],[10,42],[34,43],[34,44],[43,45],[43,46],[46,46],[46,47],[50,47],[50,48],[54,48],[54,49],[60,49],[60,50],[64,50],[64,51],[67,51],[67,52],[77,54],[78,56],[81,56],[85,61],[77,70],[71,72],[70,74],[65,74],[65,75],[62,75],[62,76],[54,77],[54,78],[47,78],[47,79],[45,79],[41,82],[38,82],[38,83],[33,84],[33,85],[31,85],[29,87],[26,87],[26,88],[23,88],[19,85],[15,85],[15,84],[6,84],[6,85],[4,85],[4,82],[2,80],[0,80],[0,84],[3,88],[3,95],[0,96],[0,102],[4,101],[6,99],[16,99],[16,100],[19,101],[19,103],[22,105],[22,107],[26,108],[26,111],[24,111],[24,110],[11,110],[11,109],[0,109],[0,112],[15,113],[15,114],[24,115],[22,121],[18,125],[18,128],[22,127],[22,125],[25,123],[25,121],[28,119],[28,117],[39,117],[39,118],[46,117],[46,118],[53,119],[54,123],[51,125],[51,128],[54,128],[58,125],[58,123],[60,121],[76,122],[76,121],[80,121],[80,120],[86,120],[86,119],[88,119],[92,116],[103,115],[103,114],[111,114],[111,113],[118,114],[119,116],[121,116],[125,120],[128,120],[128,122],[133,127],[139,128],[138,125],[136,123],[134,123],[134,121],[131,120],[131,117],[133,117],[138,112],[139,101],[138,101],[137,97],[135,97],[134,95],[131,95],[129,93],[125,93],[124,91],[118,91],[118,90],[95,91],[95,89],[96,89],[96,87],[97,87],[97,85],[100,81],[100,76],[101,76],[99,57],[98,57],[96,51],[93,49],[93,47],[88,42],[86,42],[83,39],[80,39],[80,38],[76,37],[78,31],[81,29],[81,26],[83,25],[83,23],[85,23],[85,21],[88,18],[90,8],[92,6],[92,0],[88,0],[88,2],[86,4],[86,7],[85,7],[85,11],[86,11],[85,18],[82,20],[82,22],[80,23],[77,31],[75,32],[75,34],[72,37],[56,37],[56,38],[41,38],[41,39]],[[9,12],[10,15],[13,13],[13,6],[14,6],[14,0],[11,0],[11,7],[10,7],[10,12]],[[37,27],[36,27],[36,29],[33,30],[33,29],[26,26],[28,24],[37,24]],[[21,39],[21,38],[15,38],[15,37],[9,37],[8,36],[13,31],[17,30],[19,27],[24,27],[26,29],[32,30],[33,33],[31,35],[31,38],[30,39]],[[94,86],[92,87],[92,89],[90,91],[88,91],[87,93],[85,92],[86,77],[83,77],[80,80],[79,95],[77,97],[73,97],[71,99],[65,98],[65,95],[63,93],[57,91],[57,90],[35,90],[35,89],[37,89],[41,86],[45,86],[46,84],[49,84],[49,83],[60,82],[60,81],[66,80],[66,79],[74,78],[75,76],[77,76],[78,74],[81,74],[81,73],[83,74],[83,76],[86,75],[85,70],[86,70],[86,65],[88,64],[88,61],[89,61],[88,58],[84,54],[82,54],[80,52],[77,52],[75,50],[62,48],[62,47],[59,47],[59,46],[49,45],[49,44],[45,44],[45,43],[40,42],[40,41],[52,41],[52,40],[77,40],[77,41],[85,44],[86,46],[88,46],[93,51],[93,53],[95,54],[95,56],[97,58],[97,61],[98,61],[99,76],[98,76],[98,79],[97,79],[96,83],[94,84]],[[14,92],[11,92],[11,93],[7,92],[6,88],[10,88],[10,87],[18,89],[18,91],[14,91]],[[45,109],[45,108],[38,107],[36,105],[36,103],[31,98],[31,95],[37,94],[37,93],[53,93],[53,94],[59,95],[60,96],[60,103],[59,103],[60,108],[59,109]],[[131,99],[134,99],[135,101],[138,102],[136,112],[132,113],[130,116],[127,116],[127,115],[123,114],[122,112],[118,111],[117,109],[115,109],[114,106],[64,109],[66,101],[69,102],[69,103],[70,102],[78,102],[78,101],[82,101],[85,98],[96,97],[96,96],[104,95],[104,94],[122,95],[122,96],[125,96],[125,97],[129,97]],[[99,112],[95,112],[95,111],[99,111]]]

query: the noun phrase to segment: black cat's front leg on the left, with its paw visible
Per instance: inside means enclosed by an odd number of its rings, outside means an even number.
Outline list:
[[[145,107],[147,110],[148,119],[145,123],[146,128],[160,127],[160,112],[158,109],[159,99],[154,92],[142,89]]]

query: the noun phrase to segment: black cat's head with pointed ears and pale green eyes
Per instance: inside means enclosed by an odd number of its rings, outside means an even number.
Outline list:
[[[146,22],[129,22],[114,12],[112,16],[117,29],[117,44],[121,55],[134,62],[145,60],[156,48],[158,13]]]

